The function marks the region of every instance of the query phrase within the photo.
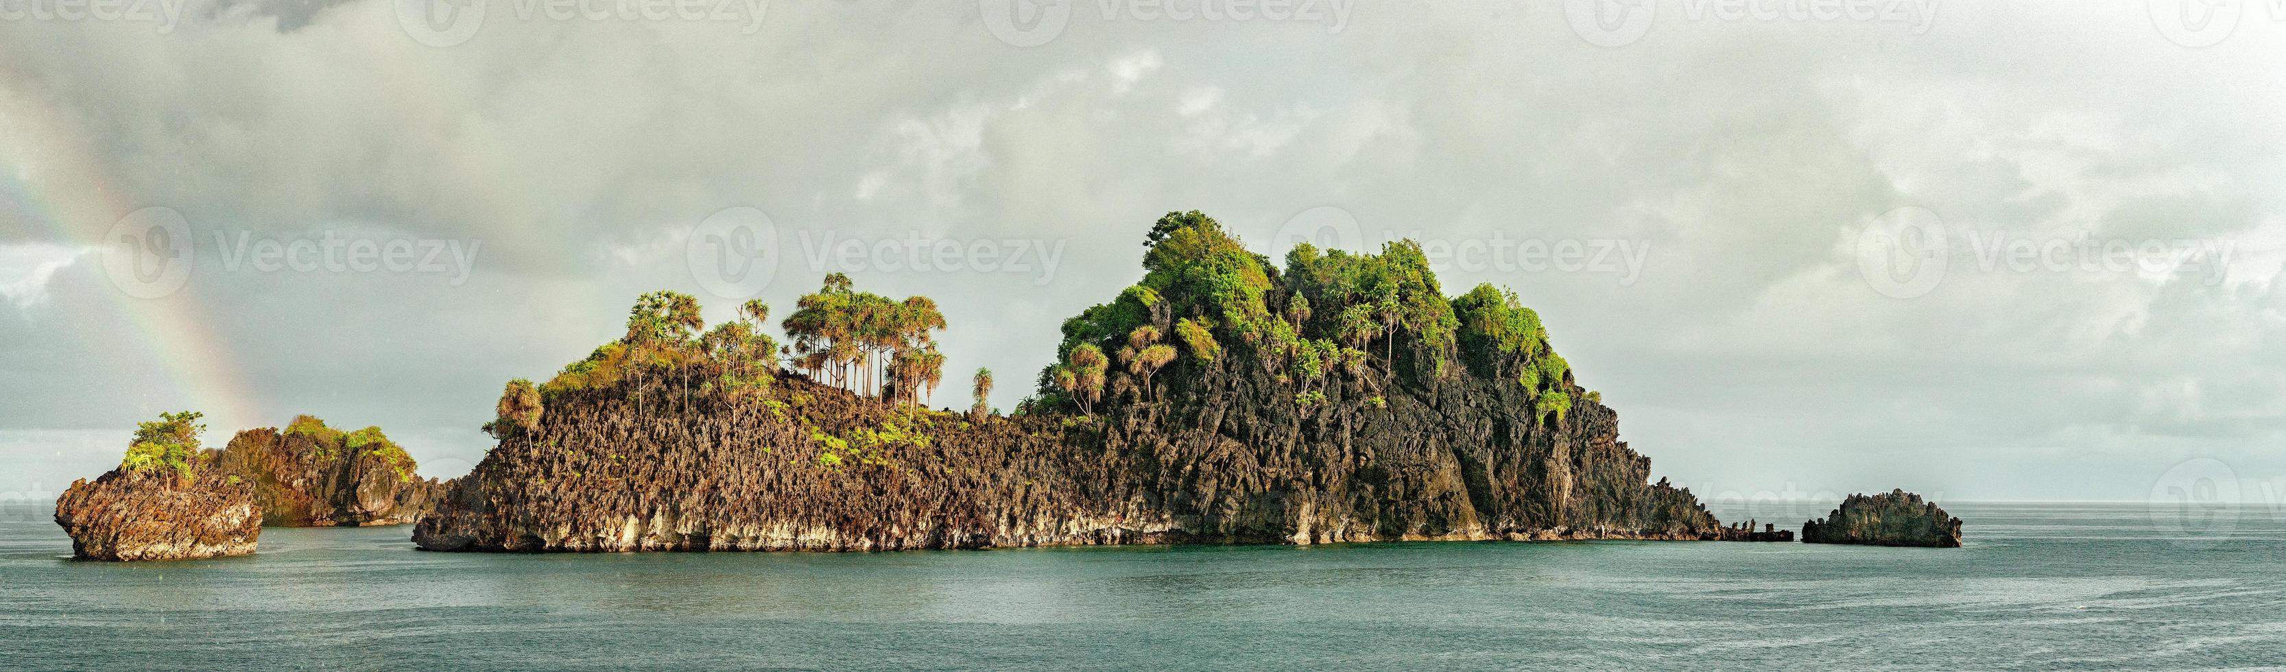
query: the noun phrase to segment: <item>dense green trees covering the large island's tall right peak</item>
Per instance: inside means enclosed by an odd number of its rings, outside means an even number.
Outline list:
[[[1040,370],[1020,414],[1154,402],[1164,398],[1159,373],[1177,359],[1205,366],[1232,354],[1292,386],[1301,407],[1326,402],[1335,379],[1365,384],[1369,405],[1381,407],[1381,391],[1399,377],[1445,377],[1463,357],[1516,379],[1541,416],[1561,418],[1573,407],[1570,366],[1538,313],[1488,283],[1447,299],[1413,240],[1378,254],[1301,242],[1278,267],[1191,210],[1159,217],[1143,245],[1143,279],[1063,322],[1056,361]],[[1426,359],[1406,361],[1399,343],[1420,345]]]

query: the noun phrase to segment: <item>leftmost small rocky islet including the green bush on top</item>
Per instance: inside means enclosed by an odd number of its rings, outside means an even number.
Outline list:
[[[254,553],[263,533],[254,485],[217,469],[199,448],[199,414],[142,423],[119,469],[75,480],[55,501],[55,523],[82,560],[185,560]]]

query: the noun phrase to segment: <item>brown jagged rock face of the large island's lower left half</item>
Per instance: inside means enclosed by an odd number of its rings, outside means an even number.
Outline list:
[[[453,482],[432,551],[894,551],[1154,542],[1056,423],[898,409],[782,379],[764,400],[558,398]],[[832,437],[839,448],[814,437]],[[928,439],[914,439],[928,437]],[[1093,487],[1088,487],[1093,485]]]

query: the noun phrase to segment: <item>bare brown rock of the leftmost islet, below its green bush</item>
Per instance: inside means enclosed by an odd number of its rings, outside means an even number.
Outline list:
[[[254,485],[210,466],[197,478],[114,469],[75,480],[55,501],[55,523],[82,560],[245,555],[263,533]]]

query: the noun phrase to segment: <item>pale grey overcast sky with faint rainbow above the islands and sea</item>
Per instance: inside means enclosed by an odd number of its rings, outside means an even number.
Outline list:
[[[0,491],[169,409],[457,475],[834,270],[1013,407],[1198,208],[1449,251],[1708,496],[2286,496],[2277,2],[0,2]]]

